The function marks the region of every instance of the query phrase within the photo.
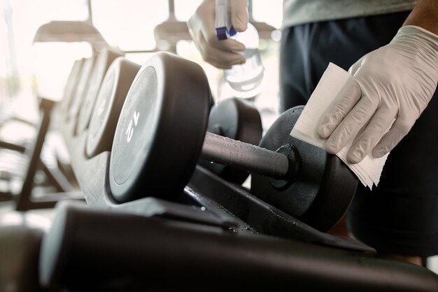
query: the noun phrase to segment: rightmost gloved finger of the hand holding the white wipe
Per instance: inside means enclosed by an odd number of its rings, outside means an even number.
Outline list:
[[[376,147],[372,150],[372,156],[374,158],[381,158],[386,155],[386,153],[393,150],[400,140],[402,140],[411,130],[414,123],[415,120],[412,118],[398,116],[388,133],[383,135],[379,143],[377,143]]]

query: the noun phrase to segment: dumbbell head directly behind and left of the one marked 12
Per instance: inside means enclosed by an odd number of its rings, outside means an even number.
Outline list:
[[[140,67],[125,57],[118,57],[108,68],[90,118],[86,146],[89,158],[111,151],[123,102]]]

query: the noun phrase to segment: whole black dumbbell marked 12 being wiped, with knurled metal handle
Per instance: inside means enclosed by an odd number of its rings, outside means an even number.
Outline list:
[[[143,64],[115,130],[108,175],[115,202],[175,200],[201,158],[252,172],[253,195],[314,228],[336,224],[358,180],[335,155],[290,137],[302,108],[283,113],[262,148],[206,132],[209,94],[194,62],[162,52]]]

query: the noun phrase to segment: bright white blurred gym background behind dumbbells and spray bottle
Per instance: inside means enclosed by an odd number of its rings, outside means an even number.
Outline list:
[[[185,22],[201,0],[0,0],[0,140],[19,143],[35,135],[38,102],[43,96],[59,100],[74,60],[90,57],[99,46],[111,46],[143,64],[158,50],[168,50],[201,64],[216,102],[232,97],[222,71],[206,64],[190,41]],[[278,47],[281,39],[282,0],[250,1],[250,20],[260,31],[260,53],[265,69],[260,95],[252,101],[269,128],[278,116]],[[87,22],[103,42],[45,38],[38,28],[52,21]],[[53,27],[52,27],[53,29]],[[13,119],[12,119],[13,117]],[[24,121],[24,123],[23,123]],[[11,160],[12,159],[12,160]],[[0,191],[13,188],[12,156],[0,153]],[[16,165],[16,163],[15,163]],[[3,186],[7,183],[8,186]],[[20,188],[20,181],[16,182]],[[7,204],[3,202],[3,204]],[[2,209],[8,209],[1,204]],[[5,207],[6,206],[6,207]],[[438,272],[438,258],[430,258]]]

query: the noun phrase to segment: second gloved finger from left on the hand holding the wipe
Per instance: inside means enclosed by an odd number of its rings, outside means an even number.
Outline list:
[[[338,153],[348,144],[348,141],[355,139],[360,129],[367,125],[374,115],[377,106],[378,104],[372,99],[362,97],[330,135],[325,146],[327,152]]]

